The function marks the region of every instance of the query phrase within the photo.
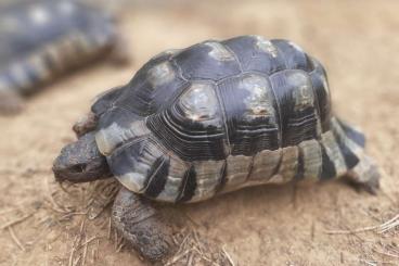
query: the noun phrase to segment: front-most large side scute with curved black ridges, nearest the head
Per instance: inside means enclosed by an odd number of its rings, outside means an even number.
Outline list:
[[[193,83],[173,104],[146,117],[157,140],[184,161],[221,160],[227,137],[211,83]]]

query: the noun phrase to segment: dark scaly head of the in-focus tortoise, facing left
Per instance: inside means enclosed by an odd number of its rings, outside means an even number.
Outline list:
[[[94,132],[65,145],[52,169],[57,181],[87,182],[112,176],[105,156],[96,147]]]

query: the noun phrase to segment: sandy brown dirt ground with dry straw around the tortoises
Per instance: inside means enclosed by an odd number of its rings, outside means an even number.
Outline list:
[[[201,1],[126,12],[133,65],[96,64],[29,99],[23,114],[0,118],[0,265],[145,265],[110,229],[103,205],[114,188],[99,182],[64,191],[53,182],[52,161],[74,140],[70,127],[90,100],[127,83],[155,53],[244,34],[294,40],[323,62],[335,112],[368,136],[384,173],[382,191],[371,197],[342,181],[266,186],[178,211],[215,244],[204,249],[230,256],[224,265],[399,265],[398,219],[364,232],[326,233],[399,214],[398,10],[394,0]],[[208,255],[179,262],[210,265]]]

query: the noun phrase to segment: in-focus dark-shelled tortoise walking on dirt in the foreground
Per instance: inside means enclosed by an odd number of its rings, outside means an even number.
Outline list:
[[[114,176],[113,223],[146,258],[171,251],[153,201],[189,203],[262,183],[347,176],[375,193],[363,134],[331,109],[326,73],[297,45],[240,36],[151,59],[96,98],[62,149],[59,181]]]

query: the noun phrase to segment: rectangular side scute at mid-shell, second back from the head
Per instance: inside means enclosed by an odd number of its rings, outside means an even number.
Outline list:
[[[276,102],[266,76],[243,74],[219,84],[232,155],[254,155],[280,144]]]

